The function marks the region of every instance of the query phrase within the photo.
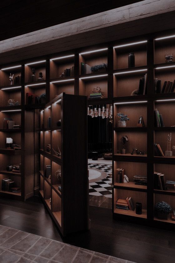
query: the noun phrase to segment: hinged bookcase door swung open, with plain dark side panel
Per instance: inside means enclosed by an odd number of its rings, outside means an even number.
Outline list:
[[[76,107],[74,108],[73,102]],[[40,194],[62,235],[88,229],[87,97],[62,93],[40,112]],[[51,118],[48,127],[48,119]],[[58,121],[61,120],[61,123]],[[78,130],[77,130],[78,127]],[[50,145],[50,151],[48,149]],[[43,148],[42,148],[43,147]],[[61,156],[56,152],[61,152]],[[77,166],[78,162],[81,163]],[[46,166],[51,166],[49,176]],[[60,171],[61,176],[58,176]],[[83,176],[82,176],[83,175]],[[61,189],[60,189],[61,187]]]

